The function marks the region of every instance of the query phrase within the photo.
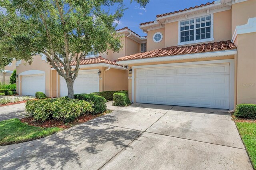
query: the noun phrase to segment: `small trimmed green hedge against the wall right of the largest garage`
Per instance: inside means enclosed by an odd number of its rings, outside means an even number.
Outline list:
[[[256,119],[256,105],[255,104],[239,104],[236,105],[234,113],[236,117]]]

